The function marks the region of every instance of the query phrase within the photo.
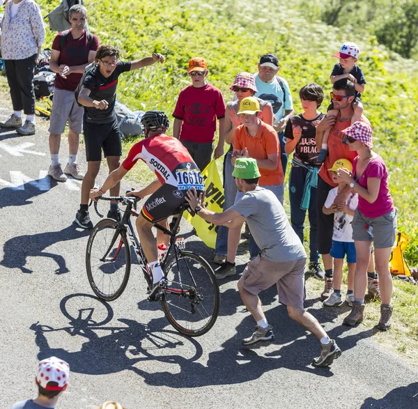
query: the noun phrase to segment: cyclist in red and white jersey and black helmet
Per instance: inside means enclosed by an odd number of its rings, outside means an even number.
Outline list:
[[[167,217],[176,214],[178,207],[186,203],[186,191],[193,187],[204,190],[203,178],[187,148],[176,138],[168,137],[164,132],[169,128],[169,118],[162,111],[148,111],[141,119],[144,125],[145,139],[132,146],[127,158],[118,169],[109,173],[100,189],[92,189],[90,197],[93,200],[102,196],[114,187],[123,176],[132,169],[139,159],[148,164],[155,172],[157,179],[142,190],[133,190],[128,196],[137,196],[146,200],[137,217],[137,230],[148,268],[153,274],[153,284],[161,281],[163,274],[157,261],[157,245],[151,228],[159,222],[168,229]],[[157,230],[157,242],[169,244],[169,236]]]

